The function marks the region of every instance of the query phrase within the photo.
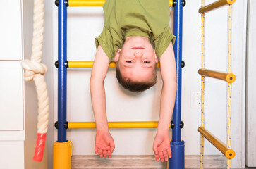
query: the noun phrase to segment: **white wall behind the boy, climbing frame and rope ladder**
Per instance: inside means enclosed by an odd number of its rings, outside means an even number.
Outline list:
[[[209,4],[212,1],[206,1]],[[187,1],[183,8],[183,91],[182,120],[185,127],[182,139],[185,140],[185,154],[200,154],[200,108],[191,105],[191,94],[200,92],[200,75],[197,74],[201,62],[201,18],[197,10],[200,1]],[[53,4],[54,46],[57,46],[57,8]],[[245,22],[246,1],[236,1],[233,5],[233,72],[237,80],[233,84],[233,148],[237,157],[234,168],[243,165],[244,157],[244,73],[245,73]],[[205,65],[206,68],[226,72],[227,60],[227,7],[206,14]],[[68,7],[68,60],[92,61],[95,56],[95,37],[104,24],[102,7]],[[57,47],[54,60],[57,60]],[[106,111],[109,121],[158,120],[161,78],[152,89],[141,94],[126,92],[119,86],[115,71],[109,69],[106,76]],[[68,121],[94,120],[90,101],[90,69],[68,69]],[[205,120],[208,130],[226,142],[226,82],[206,78]],[[57,119],[57,69],[54,70],[54,119]],[[154,129],[111,129],[116,149],[114,155],[153,154]],[[238,131],[238,132],[237,132]],[[75,148],[74,155],[94,153],[95,130],[68,130]],[[55,130],[56,140],[56,130]],[[208,142],[205,154],[220,154]]]

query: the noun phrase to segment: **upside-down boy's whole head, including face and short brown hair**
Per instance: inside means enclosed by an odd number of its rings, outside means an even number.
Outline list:
[[[147,37],[126,37],[116,51],[116,77],[132,92],[142,92],[157,82],[157,55]]]

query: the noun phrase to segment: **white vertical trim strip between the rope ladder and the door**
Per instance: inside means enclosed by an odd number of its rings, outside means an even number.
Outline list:
[[[245,70],[247,1],[233,6],[232,67],[236,75],[232,92],[232,148],[236,151],[233,168],[245,166]]]

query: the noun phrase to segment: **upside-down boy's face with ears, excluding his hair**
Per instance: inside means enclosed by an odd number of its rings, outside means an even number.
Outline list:
[[[127,37],[122,49],[118,49],[115,62],[124,78],[135,82],[152,79],[157,55],[147,37]]]

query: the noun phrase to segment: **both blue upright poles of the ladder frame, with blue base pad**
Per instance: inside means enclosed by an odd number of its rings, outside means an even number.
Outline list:
[[[176,1],[176,3],[175,3]],[[67,6],[66,0],[59,0],[58,5],[58,140],[57,142],[67,142],[66,139],[66,125],[67,125],[67,68],[65,63],[67,61]],[[169,169],[184,169],[184,141],[181,141],[181,64],[182,64],[182,23],[183,23],[183,6],[184,0],[173,0],[176,4],[174,7],[174,35],[176,35],[176,42],[173,46],[176,57],[177,68],[177,93],[176,102],[173,110],[173,130],[171,151],[172,158],[169,158]]]

